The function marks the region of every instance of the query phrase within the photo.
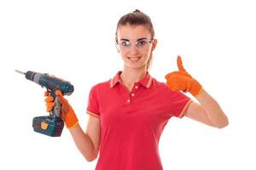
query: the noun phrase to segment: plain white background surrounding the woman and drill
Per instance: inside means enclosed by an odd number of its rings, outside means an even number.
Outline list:
[[[48,72],[72,82],[67,99],[85,128],[90,88],[122,69],[114,47],[119,17],[136,8],[148,14],[159,44],[151,75],[164,82],[183,65],[229,117],[223,129],[173,118],[160,139],[164,169],[256,169],[256,6],[253,1],[0,2],[0,169],[94,169],[67,128],[61,138],[32,130],[46,116],[44,88],[15,70]],[[143,151],[143,150],[142,150]],[[253,162],[254,161],[254,162]]]

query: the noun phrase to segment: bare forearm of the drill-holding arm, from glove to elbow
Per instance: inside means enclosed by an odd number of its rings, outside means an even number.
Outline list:
[[[97,154],[94,149],[94,145],[91,142],[90,136],[84,133],[84,131],[79,125],[77,127],[70,129],[69,131],[73,137],[74,143],[76,144],[84,158],[87,161],[95,160]]]

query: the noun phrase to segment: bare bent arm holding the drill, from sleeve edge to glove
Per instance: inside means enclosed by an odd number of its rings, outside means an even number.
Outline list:
[[[100,144],[100,119],[89,115],[86,132],[78,125],[70,129],[73,140],[87,161],[96,159]]]

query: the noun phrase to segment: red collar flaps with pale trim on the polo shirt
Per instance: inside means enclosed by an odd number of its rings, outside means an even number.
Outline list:
[[[118,71],[117,74],[110,80],[110,88],[113,88],[118,82],[121,82],[122,71]],[[144,76],[138,83],[143,85],[145,88],[150,88],[152,82],[152,77],[147,72],[146,76]]]

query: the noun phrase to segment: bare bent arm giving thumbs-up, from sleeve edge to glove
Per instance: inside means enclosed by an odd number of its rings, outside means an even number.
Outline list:
[[[205,90],[202,90],[196,99],[200,105],[191,102],[184,116],[212,127],[222,128],[229,124],[228,118],[218,105],[218,102],[210,94],[207,94]]]

